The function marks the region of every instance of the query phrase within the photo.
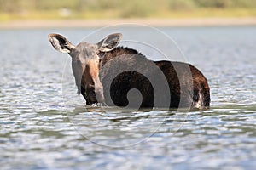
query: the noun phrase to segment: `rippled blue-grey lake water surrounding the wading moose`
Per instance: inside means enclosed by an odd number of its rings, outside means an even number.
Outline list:
[[[1,169],[256,167],[256,26],[160,28],[210,84],[211,108],[189,112],[84,107],[47,36],[95,30],[0,31]]]

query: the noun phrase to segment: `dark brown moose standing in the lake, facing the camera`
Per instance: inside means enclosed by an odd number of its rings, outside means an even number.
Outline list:
[[[120,33],[110,34],[96,44],[80,42],[77,46],[60,34],[48,37],[57,51],[71,56],[78,94],[83,95],[86,105],[199,109],[210,105],[207,78],[195,66],[152,61],[136,49],[119,47]]]

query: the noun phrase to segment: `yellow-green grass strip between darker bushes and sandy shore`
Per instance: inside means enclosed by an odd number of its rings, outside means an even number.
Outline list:
[[[147,16],[120,17],[121,11],[66,11],[66,9],[49,10],[49,11],[26,11],[20,14],[0,13],[0,21],[12,20],[73,20],[73,19],[120,19],[120,18],[160,18],[160,19],[178,19],[178,18],[233,18],[233,17],[255,17],[256,9],[232,8],[201,8],[193,11],[159,11]],[[66,14],[67,13],[67,14]]]

